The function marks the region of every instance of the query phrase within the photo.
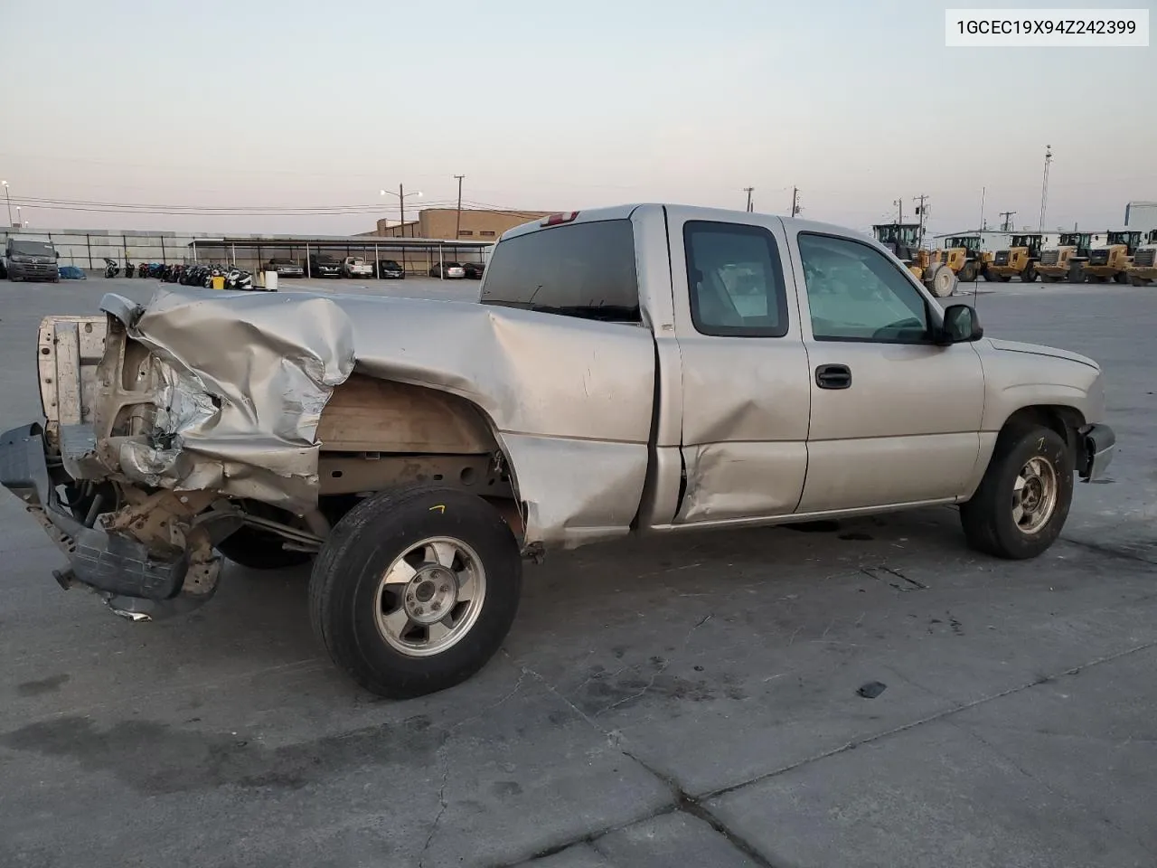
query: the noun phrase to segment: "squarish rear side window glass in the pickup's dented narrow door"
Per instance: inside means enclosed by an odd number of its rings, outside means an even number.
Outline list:
[[[779,249],[758,226],[688,221],[691,319],[701,334],[779,338],[788,331]]]

